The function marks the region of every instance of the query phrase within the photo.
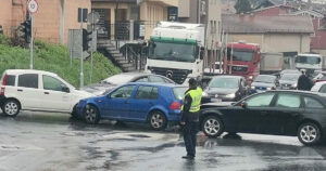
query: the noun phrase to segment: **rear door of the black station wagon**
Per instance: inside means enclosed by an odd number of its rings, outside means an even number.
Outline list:
[[[279,92],[271,113],[263,117],[262,131],[266,134],[287,134],[296,129],[296,117],[303,111],[300,94]]]

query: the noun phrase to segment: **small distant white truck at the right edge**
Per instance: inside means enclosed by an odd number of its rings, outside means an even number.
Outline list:
[[[294,60],[297,69],[306,69],[308,73],[326,69],[326,58],[314,53],[299,53]]]

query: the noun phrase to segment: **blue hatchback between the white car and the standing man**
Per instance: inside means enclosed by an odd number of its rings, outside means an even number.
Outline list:
[[[133,82],[102,96],[80,100],[76,111],[87,123],[100,119],[149,123],[154,130],[179,121],[187,87],[171,83]]]

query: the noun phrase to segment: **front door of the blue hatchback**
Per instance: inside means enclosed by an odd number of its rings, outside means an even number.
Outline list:
[[[123,116],[127,116],[130,110],[129,100],[135,91],[136,86],[127,84],[117,88],[110,94],[108,100],[102,103],[101,114],[104,118],[121,119]]]

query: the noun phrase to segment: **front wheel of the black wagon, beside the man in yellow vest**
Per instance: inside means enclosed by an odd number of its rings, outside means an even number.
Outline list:
[[[224,124],[218,117],[208,116],[203,119],[201,130],[209,137],[217,137],[223,133]]]

